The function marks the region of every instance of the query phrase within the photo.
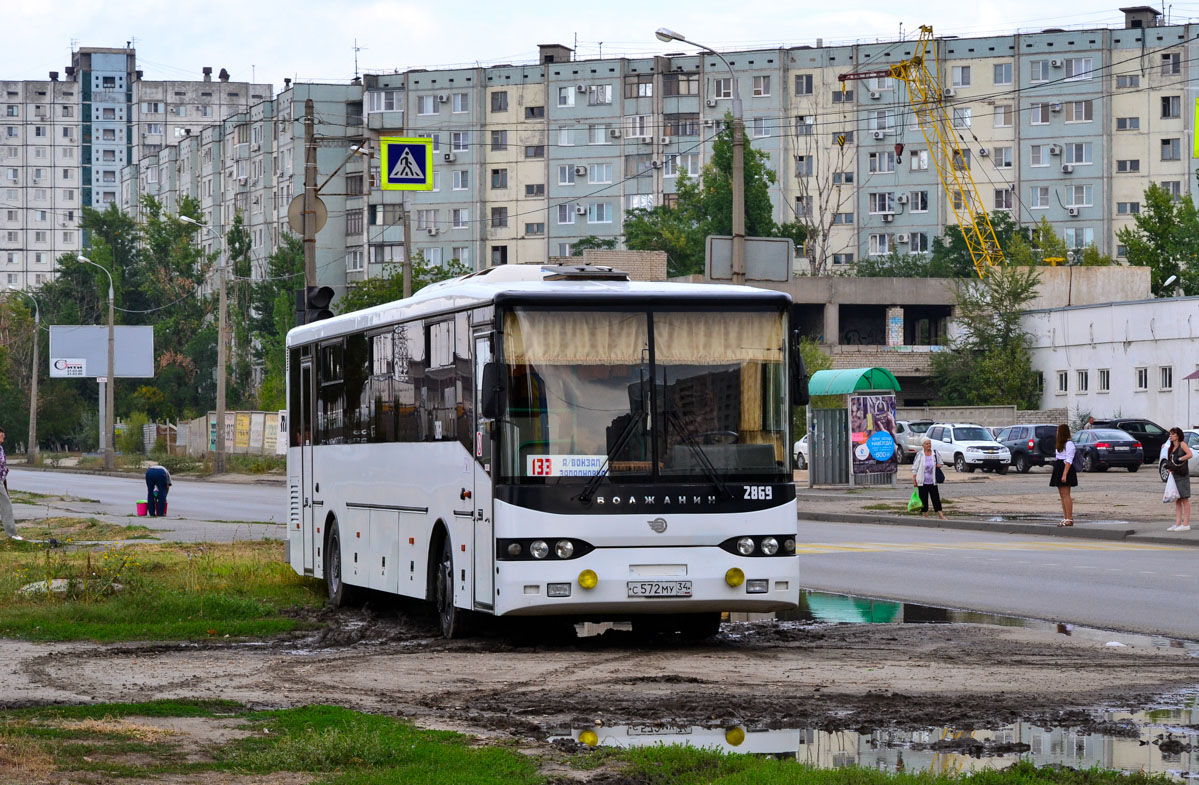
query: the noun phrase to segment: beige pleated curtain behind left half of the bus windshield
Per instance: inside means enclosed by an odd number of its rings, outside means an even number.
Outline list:
[[[650,361],[645,314],[518,310],[504,319],[508,364],[632,366]]]

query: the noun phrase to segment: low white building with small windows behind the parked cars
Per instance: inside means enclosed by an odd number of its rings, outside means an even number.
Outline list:
[[[1165,428],[1199,422],[1199,297],[1031,310],[1032,367],[1042,407],[1096,419],[1147,417]]]

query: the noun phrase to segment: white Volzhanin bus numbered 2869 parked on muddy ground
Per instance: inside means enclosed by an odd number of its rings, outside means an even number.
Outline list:
[[[797,606],[790,297],[513,265],[288,333],[288,561],[471,614]],[[799,401],[797,401],[799,403]]]

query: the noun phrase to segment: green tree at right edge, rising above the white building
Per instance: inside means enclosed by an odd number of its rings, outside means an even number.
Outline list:
[[[1188,198],[1175,199],[1157,183],[1145,189],[1145,203],[1132,227],[1116,231],[1133,267],[1149,267],[1153,294],[1168,297],[1177,276],[1183,294],[1199,292],[1199,211]]]

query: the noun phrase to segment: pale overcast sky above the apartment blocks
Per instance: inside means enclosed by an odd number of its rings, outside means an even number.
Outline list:
[[[345,81],[359,70],[392,71],[452,65],[528,62],[537,44],[578,44],[578,58],[651,55],[686,50],[653,37],[659,26],[717,49],[894,40],[921,24],[938,35],[976,36],[1068,26],[1119,26],[1116,2],[1081,0],[926,0],[912,4],[851,0],[808,11],[795,0],[591,0],[507,4],[384,0],[0,0],[5,43],[0,79],[46,79],[62,71],[74,47],[123,47],[132,41],[146,79],[200,79],[228,68],[235,80],[284,77]],[[1199,0],[1158,6],[1171,22],[1199,19]],[[773,37],[772,37],[773,36]]]

